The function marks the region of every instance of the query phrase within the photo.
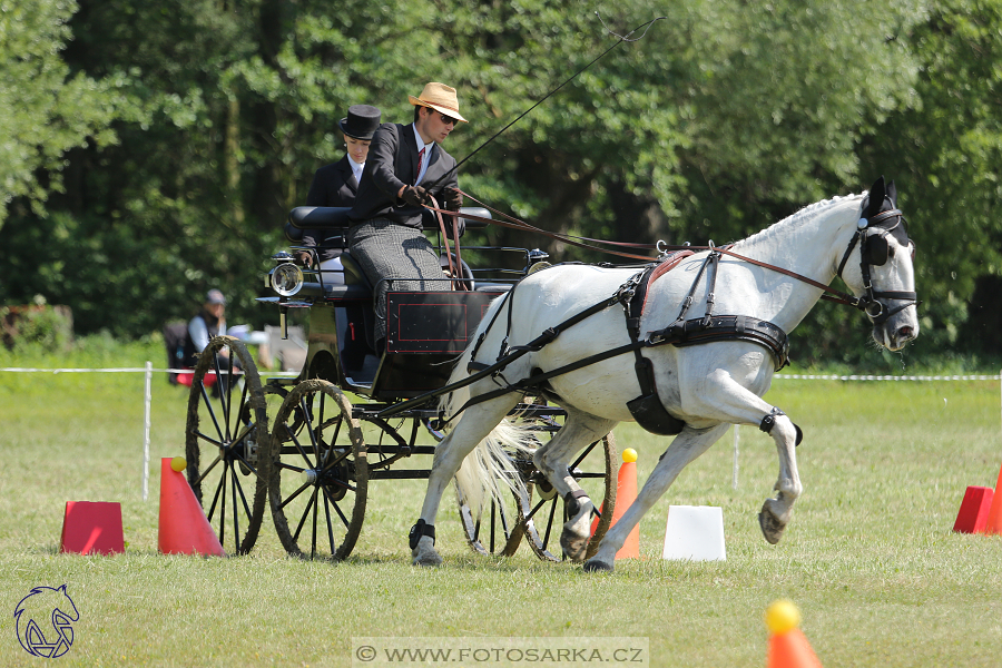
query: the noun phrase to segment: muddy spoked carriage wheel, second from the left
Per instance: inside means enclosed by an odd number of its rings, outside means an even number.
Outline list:
[[[302,558],[347,558],[369,489],[352,404],[327,381],[303,381],[282,403],[269,442],[268,498],[283,547]]]

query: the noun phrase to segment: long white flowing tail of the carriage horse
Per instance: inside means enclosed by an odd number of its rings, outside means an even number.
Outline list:
[[[481,330],[490,326],[494,311],[508,302],[508,299],[494,299],[484,314],[477,334],[472,337],[473,341],[480,337]],[[466,365],[471,354],[472,346],[468,347],[455,363],[455,369],[449,377],[449,384],[468,377]],[[469,385],[453,390],[442,397],[439,406],[445,418],[451,421],[450,424],[460,420],[460,415],[456,413],[463,410],[470,397]],[[511,499],[512,492],[520,498],[525,493],[525,483],[518,474],[515,459],[532,458],[532,453],[539,445],[534,433],[532,425],[527,421],[519,420],[517,415],[507,416],[463,460],[455,473],[455,491],[460,500],[474,513],[474,517],[479,517],[484,502],[490,499],[501,503],[505,498]]]

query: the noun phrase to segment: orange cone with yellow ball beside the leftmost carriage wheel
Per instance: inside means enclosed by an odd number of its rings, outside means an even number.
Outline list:
[[[181,471],[184,458],[160,460],[160,528],[157,544],[164,554],[226,557],[195,493]]]

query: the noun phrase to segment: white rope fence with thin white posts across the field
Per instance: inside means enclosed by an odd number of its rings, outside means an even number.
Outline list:
[[[149,497],[149,428],[150,428],[150,405],[153,403],[151,381],[154,373],[176,373],[190,374],[195,373],[191,369],[154,369],[153,362],[147,362],[146,366],[125,366],[121,369],[27,369],[27,367],[0,367],[0,372],[7,373],[143,373],[146,374],[146,400],[145,400],[145,433],[143,439],[143,500]],[[268,372],[274,376],[296,376],[298,372]],[[976,374],[976,375],[829,375],[829,374],[776,374],[773,376],[784,381],[875,381],[875,382],[951,382],[951,381],[1002,381],[1002,372],[994,375]],[[1002,384],[1000,384],[1000,394],[1002,394]],[[734,425],[734,469],[731,473],[731,485],[738,488],[738,425]]]

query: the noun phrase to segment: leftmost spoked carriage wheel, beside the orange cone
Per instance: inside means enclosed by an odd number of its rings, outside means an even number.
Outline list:
[[[227,554],[245,554],[257,541],[267,494],[267,462],[259,453],[267,441],[254,360],[236,338],[216,336],[191,379],[185,456],[188,484]]]

